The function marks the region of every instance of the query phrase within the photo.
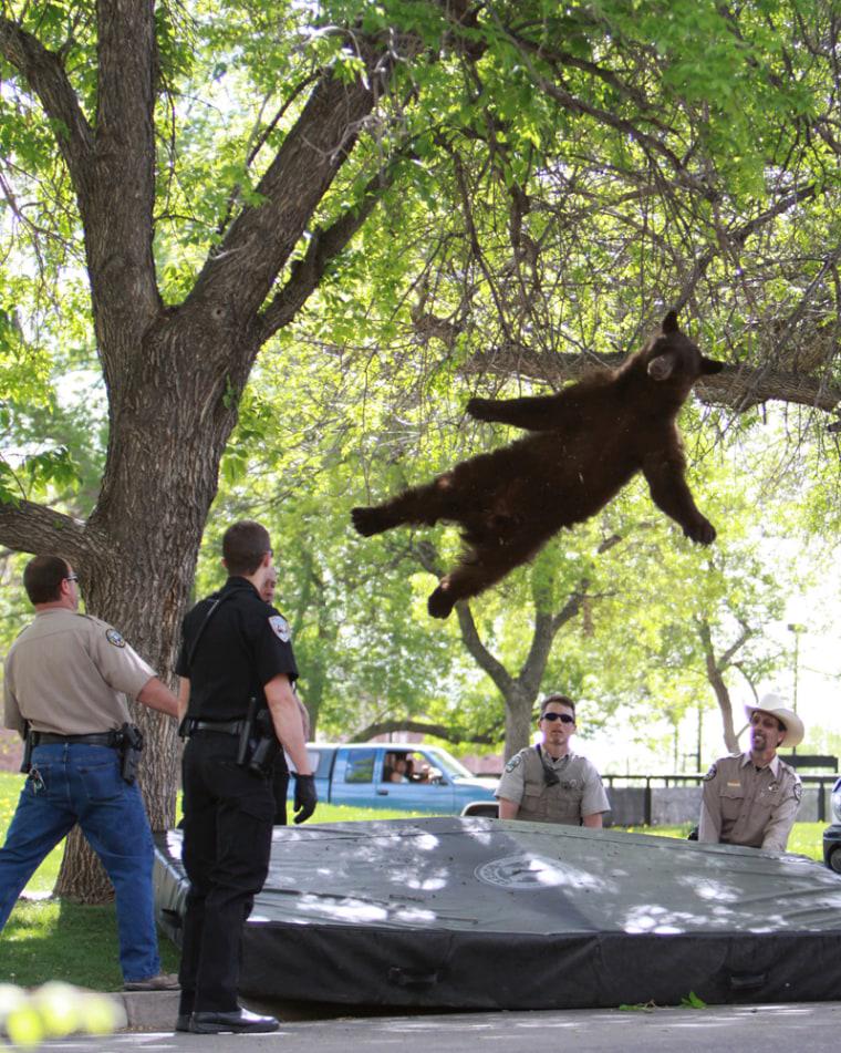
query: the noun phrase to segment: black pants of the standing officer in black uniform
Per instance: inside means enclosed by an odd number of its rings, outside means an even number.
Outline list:
[[[180,1013],[237,1008],[242,926],[269,870],[269,780],[235,763],[237,739],[198,732],[184,751],[183,863],[190,881]]]

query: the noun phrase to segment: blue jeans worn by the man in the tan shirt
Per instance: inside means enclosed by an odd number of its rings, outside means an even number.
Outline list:
[[[32,771],[0,848],[0,929],[44,856],[76,823],[114,886],[124,979],[157,975],[152,832],[138,787],[122,780],[120,756],[107,746],[56,743],[32,751]]]

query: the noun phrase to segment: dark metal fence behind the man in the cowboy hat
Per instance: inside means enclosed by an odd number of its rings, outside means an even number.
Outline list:
[[[801,775],[800,823],[831,819],[830,795],[838,773]],[[613,826],[676,826],[697,823],[704,775],[603,775]]]

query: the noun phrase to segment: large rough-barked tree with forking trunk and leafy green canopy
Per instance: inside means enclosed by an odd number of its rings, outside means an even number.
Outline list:
[[[644,217],[637,233],[654,254],[617,296],[616,319],[647,322],[664,296],[692,302],[702,282],[715,302],[737,267],[747,331],[758,231],[837,189],[837,31],[830,0],[738,11],[697,0],[7,0],[0,333],[33,364],[68,340],[93,344],[107,450],[84,516],[21,496],[4,475],[0,540],[71,559],[89,609],[166,674],[256,358],[304,304],[335,317],[345,267],[351,279],[370,264],[376,275],[387,255],[383,299],[415,281],[416,332],[446,338],[456,364],[488,342],[519,353],[538,326],[541,347],[557,347],[570,330],[553,297],[575,301],[588,282],[557,254],[575,216],[609,207],[626,230]],[[429,251],[428,226],[402,224],[418,203],[458,219],[436,219]],[[372,259],[354,260],[381,204],[392,219]],[[798,221],[807,230],[820,216]],[[634,269],[622,245],[616,266]],[[586,266],[605,272],[610,258],[605,241]],[[768,322],[782,324],[775,347],[804,324],[798,304],[835,264],[821,246],[779,275],[792,309]],[[823,323],[824,301],[809,326]],[[174,729],[137,719],[162,827]]]

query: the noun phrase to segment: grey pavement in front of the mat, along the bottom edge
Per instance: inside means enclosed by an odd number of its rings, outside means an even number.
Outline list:
[[[246,1043],[249,1053],[360,1053],[363,1050],[435,1053],[522,1050],[523,1053],[838,1053],[841,1002],[770,1005],[710,1005],[705,1009],[541,1010],[492,1013],[398,1013],[370,1015],[353,1009],[267,1005],[257,1011],[283,1018],[269,1035],[194,1035],[173,1032],[178,995],[118,995],[125,1001],[129,1030],[105,1037],[90,1035],[46,1042],[62,1053],[228,1053]],[[367,1011],[368,1013],[371,1011]],[[341,1015],[339,1015],[341,1013]]]

